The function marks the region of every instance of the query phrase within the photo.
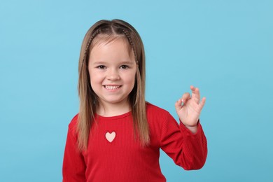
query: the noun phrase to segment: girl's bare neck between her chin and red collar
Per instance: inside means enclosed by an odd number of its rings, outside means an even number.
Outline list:
[[[100,102],[99,108],[97,109],[97,114],[99,116],[111,117],[119,116],[124,113],[131,111],[131,106],[129,102],[119,103],[119,104],[104,104]]]

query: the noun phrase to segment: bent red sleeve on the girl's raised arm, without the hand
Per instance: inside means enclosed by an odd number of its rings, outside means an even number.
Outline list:
[[[201,169],[207,159],[207,139],[200,122],[193,134],[168,113],[162,122],[160,146],[183,169]]]

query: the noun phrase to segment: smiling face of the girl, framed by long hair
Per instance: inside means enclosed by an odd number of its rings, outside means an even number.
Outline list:
[[[99,42],[90,52],[88,71],[91,87],[104,108],[130,105],[128,96],[134,87],[137,64],[128,53],[123,38]]]

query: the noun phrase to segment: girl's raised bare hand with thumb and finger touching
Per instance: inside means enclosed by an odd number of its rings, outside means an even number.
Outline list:
[[[199,89],[190,86],[190,90],[192,90],[192,97],[190,97],[190,93],[186,92],[181,99],[176,102],[175,107],[181,122],[188,127],[190,131],[195,133],[197,132],[197,123],[206,98],[203,97],[200,102]]]

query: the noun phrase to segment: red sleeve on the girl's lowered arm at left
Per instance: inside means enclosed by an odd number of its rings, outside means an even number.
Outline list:
[[[82,153],[78,151],[77,138],[74,130],[75,126],[76,125],[72,124],[69,125],[66,146],[64,149],[64,161],[62,166],[62,176],[64,182],[86,181],[86,165]]]

